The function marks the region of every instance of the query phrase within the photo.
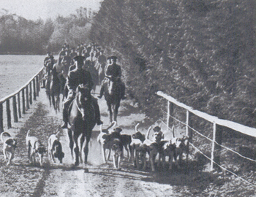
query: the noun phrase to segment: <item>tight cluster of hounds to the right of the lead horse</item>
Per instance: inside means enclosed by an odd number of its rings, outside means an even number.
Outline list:
[[[135,125],[135,133],[132,135],[121,134],[122,129],[116,127],[113,122],[108,128],[100,128],[100,133],[97,142],[102,147],[103,161],[107,163],[110,160],[110,152],[113,152],[113,166],[115,169],[121,169],[120,161],[124,158],[124,149],[127,150],[128,161],[132,161],[137,169],[146,171],[148,164],[151,171],[156,171],[155,161],[158,155],[157,168],[168,165],[171,170],[173,160],[175,165],[180,168],[182,156],[187,152],[189,138],[183,136],[181,138],[175,137],[174,126],[171,129],[171,138],[165,139],[165,134],[161,131],[159,126],[152,129],[150,126],[146,132],[146,136],[138,131],[138,125]],[[150,136],[151,129],[154,133]],[[106,150],[108,150],[108,158],[106,158]],[[147,159],[148,158],[148,159]],[[168,162],[166,162],[168,158]]]

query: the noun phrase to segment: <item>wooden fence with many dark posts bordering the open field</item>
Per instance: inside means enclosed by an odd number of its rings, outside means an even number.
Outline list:
[[[39,96],[42,72],[43,68],[40,69],[39,72],[29,80],[29,82],[23,85],[22,88],[0,100],[0,133],[4,131],[4,103],[6,105],[7,112],[7,128],[9,129],[12,128],[10,99],[12,99],[13,122],[18,123],[18,118],[22,117],[21,114],[26,114],[26,110],[29,109],[29,105],[33,104],[33,100],[36,101],[37,96]]]

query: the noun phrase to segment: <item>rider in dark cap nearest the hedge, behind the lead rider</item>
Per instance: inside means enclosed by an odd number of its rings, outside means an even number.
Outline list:
[[[124,82],[121,82],[121,66],[119,66],[118,64],[116,64],[116,60],[117,57],[116,56],[111,56],[110,57],[111,60],[111,64],[108,65],[106,72],[105,72],[105,77],[108,78],[108,80],[112,81],[112,82],[117,82],[120,87],[121,87],[121,99],[127,99],[125,95],[125,85]],[[103,84],[102,84],[102,88],[100,89],[100,93],[98,98],[102,99],[104,90],[105,90],[105,84],[108,84],[108,80],[106,80]]]

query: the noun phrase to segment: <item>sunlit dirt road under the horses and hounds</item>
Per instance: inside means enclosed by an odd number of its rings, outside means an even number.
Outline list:
[[[50,163],[46,155],[44,167],[31,166],[29,164],[25,136],[30,129],[41,139],[47,147],[50,134],[56,133],[61,124],[61,112],[56,113],[49,107],[45,97],[45,90],[40,92],[34,104],[19,123],[8,130],[18,139],[14,163],[5,166],[4,157],[0,157],[0,196],[193,196],[200,190],[206,189],[204,184],[195,179],[191,182],[191,175],[172,171],[159,171],[151,173],[150,170],[138,171],[127,160],[121,162],[121,171],[113,169],[111,162],[102,162],[102,154],[99,144],[96,142],[99,128],[93,131],[89,146],[89,173],[83,169],[83,165],[72,169],[72,158],[68,147],[67,131],[63,131],[61,143],[64,148],[64,163]],[[108,112],[105,100],[99,100],[102,112],[102,120],[108,124]],[[121,104],[118,116],[118,125],[123,128],[124,134],[131,134],[134,125],[142,121],[143,115],[138,109],[129,105],[129,101]],[[142,129],[142,128],[141,128]]]

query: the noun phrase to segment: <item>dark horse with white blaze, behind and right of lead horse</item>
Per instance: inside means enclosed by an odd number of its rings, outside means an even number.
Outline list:
[[[113,120],[117,122],[116,117],[118,114],[118,108],[120,107],[120,101],[121,101],[120,82],[112,82],[112,81],[105,82],[104,97],[108,105],[108,111],[110,114],[110,123],[112,123]]]

